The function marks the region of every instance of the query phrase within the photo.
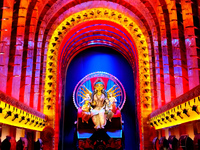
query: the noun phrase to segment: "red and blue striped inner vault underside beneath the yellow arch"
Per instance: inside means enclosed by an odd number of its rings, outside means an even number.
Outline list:
[[[133,61],[134,58],[131,55],[132,53],[136,53],[134,51],[134,41],[131,35],[123,30],[124,29],[121,26],[109,21],[95,20],[83,22],[80,25],[77,25],[75,29],[71,29],[70,33],[67,34],[68,36],[65,36],[65,39],[62,41],[65,45],[60,57],[64,57],[66,60],[66,52],[70,51],[71,48],[76,47],[76,45],[80,48],[80,45],[84,43],[85,46],[90,46],[91,44],[94,45],[94,40],[96,40],[99,41],[98,43],[104,43],[104,45],[108,44],[119,49],[119,52],[126,56],[126,59],[132,64],[133,62],[131,62],[131,60]],[[89,43],[87,43],[87,41],[89,41]],[[136,55],[137,54],[135,54],[135,57]],[[64,65],[66,62],[63,60],[62,64]]]

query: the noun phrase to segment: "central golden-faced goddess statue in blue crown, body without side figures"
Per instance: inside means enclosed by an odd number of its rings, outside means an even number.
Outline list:
[[[94,83],[94,91],[92,93],[92,107],[91,117],[94,123],[94,128],[104,128],[106,125],[106,114],[105,114],[105,100],[107,93],[104,89],[104,83],[101,79],[98,79]]]

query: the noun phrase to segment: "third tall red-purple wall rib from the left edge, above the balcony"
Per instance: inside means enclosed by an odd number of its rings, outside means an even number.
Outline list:
[[[35,2],[36,3],[36,2]],[[23,47],[23,63],[21,69],[21,83],[20,83],[20,101],[30,105],[30,89],[31,89],[31,77],[32,77],[32,66],[33,66],[33,50],[34,50],[34,31],[35,24],[37,24],[37,11],[32,7],[35,3],[29,3],[27,8],[27,16],[25,23],[24,32],[24,47]],[[25,6],[21,6],[26,8]],[[35,61],[34,61],[35,62]],[[35,63],[34,63],[35,64]],[[36,101],[37,102],[37,101]]]

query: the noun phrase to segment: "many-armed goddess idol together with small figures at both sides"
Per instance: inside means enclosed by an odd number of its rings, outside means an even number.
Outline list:
[[[113,85],[105,90],[104,82],[101,78],[93,84],[94,90],[90,91],[85,85],[80,87],[78,96],[84,102],[81,107],[82,122],[88,123],[91,118],[95,129],[102,129],[106,125],[107,120],[111,121],[116,110],[116,98],[121,95],[121,90],[117,85]]]

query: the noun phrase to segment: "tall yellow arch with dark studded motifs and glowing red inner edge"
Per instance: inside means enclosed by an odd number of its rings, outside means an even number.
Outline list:
[[[131,64],[133,72],[136,73],[136,89],[137,89],[137,113],[139,119],[140,128],[140,142],[143,145],[143,128],[146,122],[143,122],[143,118],[151,112],[151,86],[150,86],[150,68],[149,68],[149,52],[146,39],[141,31],[141,29],[133,22],[129,17],[124,14],[111,9],[105,8],[93,8],[81,11],[79,13],[73,14],[72,16],[65,19],[54,31],[51,40],[49,42],[47,51],[47,65],[46,65],[46,79],[45,79],[45,99],[44,99],[44,114],[52,114],[52,125],[54,128],[57,126],[58,120],[56,119],[56,109],[59,106],[58,103],[61,100],[58,96],[62,91],[65,70],[70,60],[81,50],[87,48],[90,45],[90,41],[97,43],[97,45],[106,45],[118,49],[116,46],[116,37],[108,37],[105,35],[101,38],[96,38],[98,34],[91,35],[92,39],[87,40],[77,40],[73,41],[75,44],[81,45],[77,48],[75,45],[70,45],[70,35],[74,34],[73,29],[76,28],[80,32],[83,25],[89,24],[99,24],[99,26],[104,26],[104,24],[113,24],[115,27],[121,27],[124,35],[121,39],[129,38],[127,46],[121,48],[119,51],[123,56],[126,56],[128,62]],[[80,29],[78,29],[80,27]],[[72,32],[72,33],[70,33]],[[116,32],[116,31],[115,31]],[[106,31],[108,34],[109,31]],[[76,37],[78,37],[77,34]],[[86,36],[87,32],[84,34]],[[119,34],[118,34],[119,35]],[[82,41],[82,43],[81,43]],[[124,40],[125,41],[125,40]],[[67,44],[66,44],[67,43]],[[85,44],[84,44],[85,43]],[[127,43],[125,45],[128,45]],[[95,46],[94,44],[93,46]],[[68,47],[69,46],[69,47]],[[131,52],[130,52],[131,50]],[[128,51],[128,53],[127,53]],[[73,55],[70,55],[74,52]],[[125,57],[125,58],[126,58]],[[62,84],[60,84],[60,82]],[[49,100],[50,99],[50,100]],[[50,109],[51,108],[51,109]],[[140,110],[140,111],[139,111]],[[143,117],[145,116],[145,117]],[[54,124],[55,122],[55,124]],[[56,129],[55,129],[56,130]],[[56,141],[56,139],[55,139]]]

